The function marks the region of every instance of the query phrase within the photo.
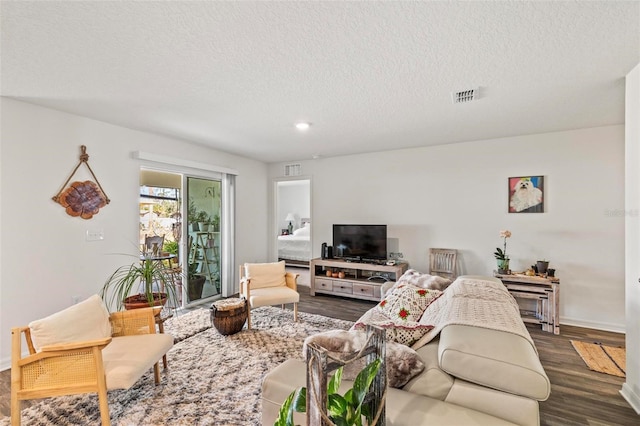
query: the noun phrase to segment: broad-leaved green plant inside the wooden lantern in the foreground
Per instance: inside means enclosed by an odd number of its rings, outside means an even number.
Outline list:
[[[363,405],[371,383],[378,374],[382,361],[380,358],[367,364],[358,373],[353,387],[344,395],[338,393],[342,382],[342,369],[336,370],[327,385],[327,416],[337,426],[362,426],[362,416],[371,424],[375,413],[369,411],[368,405]],[[307,388],[302,387],[293,391],[280,407],[280,412],[274,426],[294,426],[293,412],[304,413],[307,410]]]

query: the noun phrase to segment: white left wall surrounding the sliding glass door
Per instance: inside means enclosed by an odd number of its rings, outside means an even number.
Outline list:
[[[0,366],[10,361],[10,329],[98,293],[136,254],[139,161],[133,151],[233,168],[237,177],[236,260],[267,260],[267,166],[185,141],[134,131],[2,98],[0,134]],[[91,220],[51,200],[86,145],[89,165],[111,203]],[[90,176],[82,166],[73,180]],[[86,242],[87,230],[104,230]],[[237,267],[234,267],[234,271]]]

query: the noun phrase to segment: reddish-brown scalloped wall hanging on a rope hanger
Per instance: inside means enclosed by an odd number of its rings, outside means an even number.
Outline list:
[[[98,178],[96,178],[96,175],[89,166],[87,147],[82,145],[80,149],[82,150],[80,162],[76,168],[73,169],[71,176],[69,176],[64,185],[62,185],[62,189],[60,189],[58,194],[52,197],[52,199],[56,203],[60,203],[60,205],[67,210],[68,215],[73,217],[80,216],[82,219],[91,219],[94,214],[98,214],[100,209],[109,204],[111,200],[109,200],[107,194],[102,190]],[[67,184],[83,163],[87,166],[89,172],[91,172],[91,176],[93,176],[95,182],[90,180],[73,182],[67,187]]]

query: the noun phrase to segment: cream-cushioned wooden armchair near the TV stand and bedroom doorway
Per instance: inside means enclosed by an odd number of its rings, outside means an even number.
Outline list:
[[[240,265],[240,295],[249,303],[247,329],[251,329],[251,309],[293,303],[293,320],[298,321],[298,276],[286,272],[284,261]]]

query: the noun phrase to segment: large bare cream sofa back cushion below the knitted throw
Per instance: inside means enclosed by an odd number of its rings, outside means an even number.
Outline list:
[[[536,350],[513,333],[469,325],[440,332],[440,367],[460,379],[544,401],[551,392]]]

